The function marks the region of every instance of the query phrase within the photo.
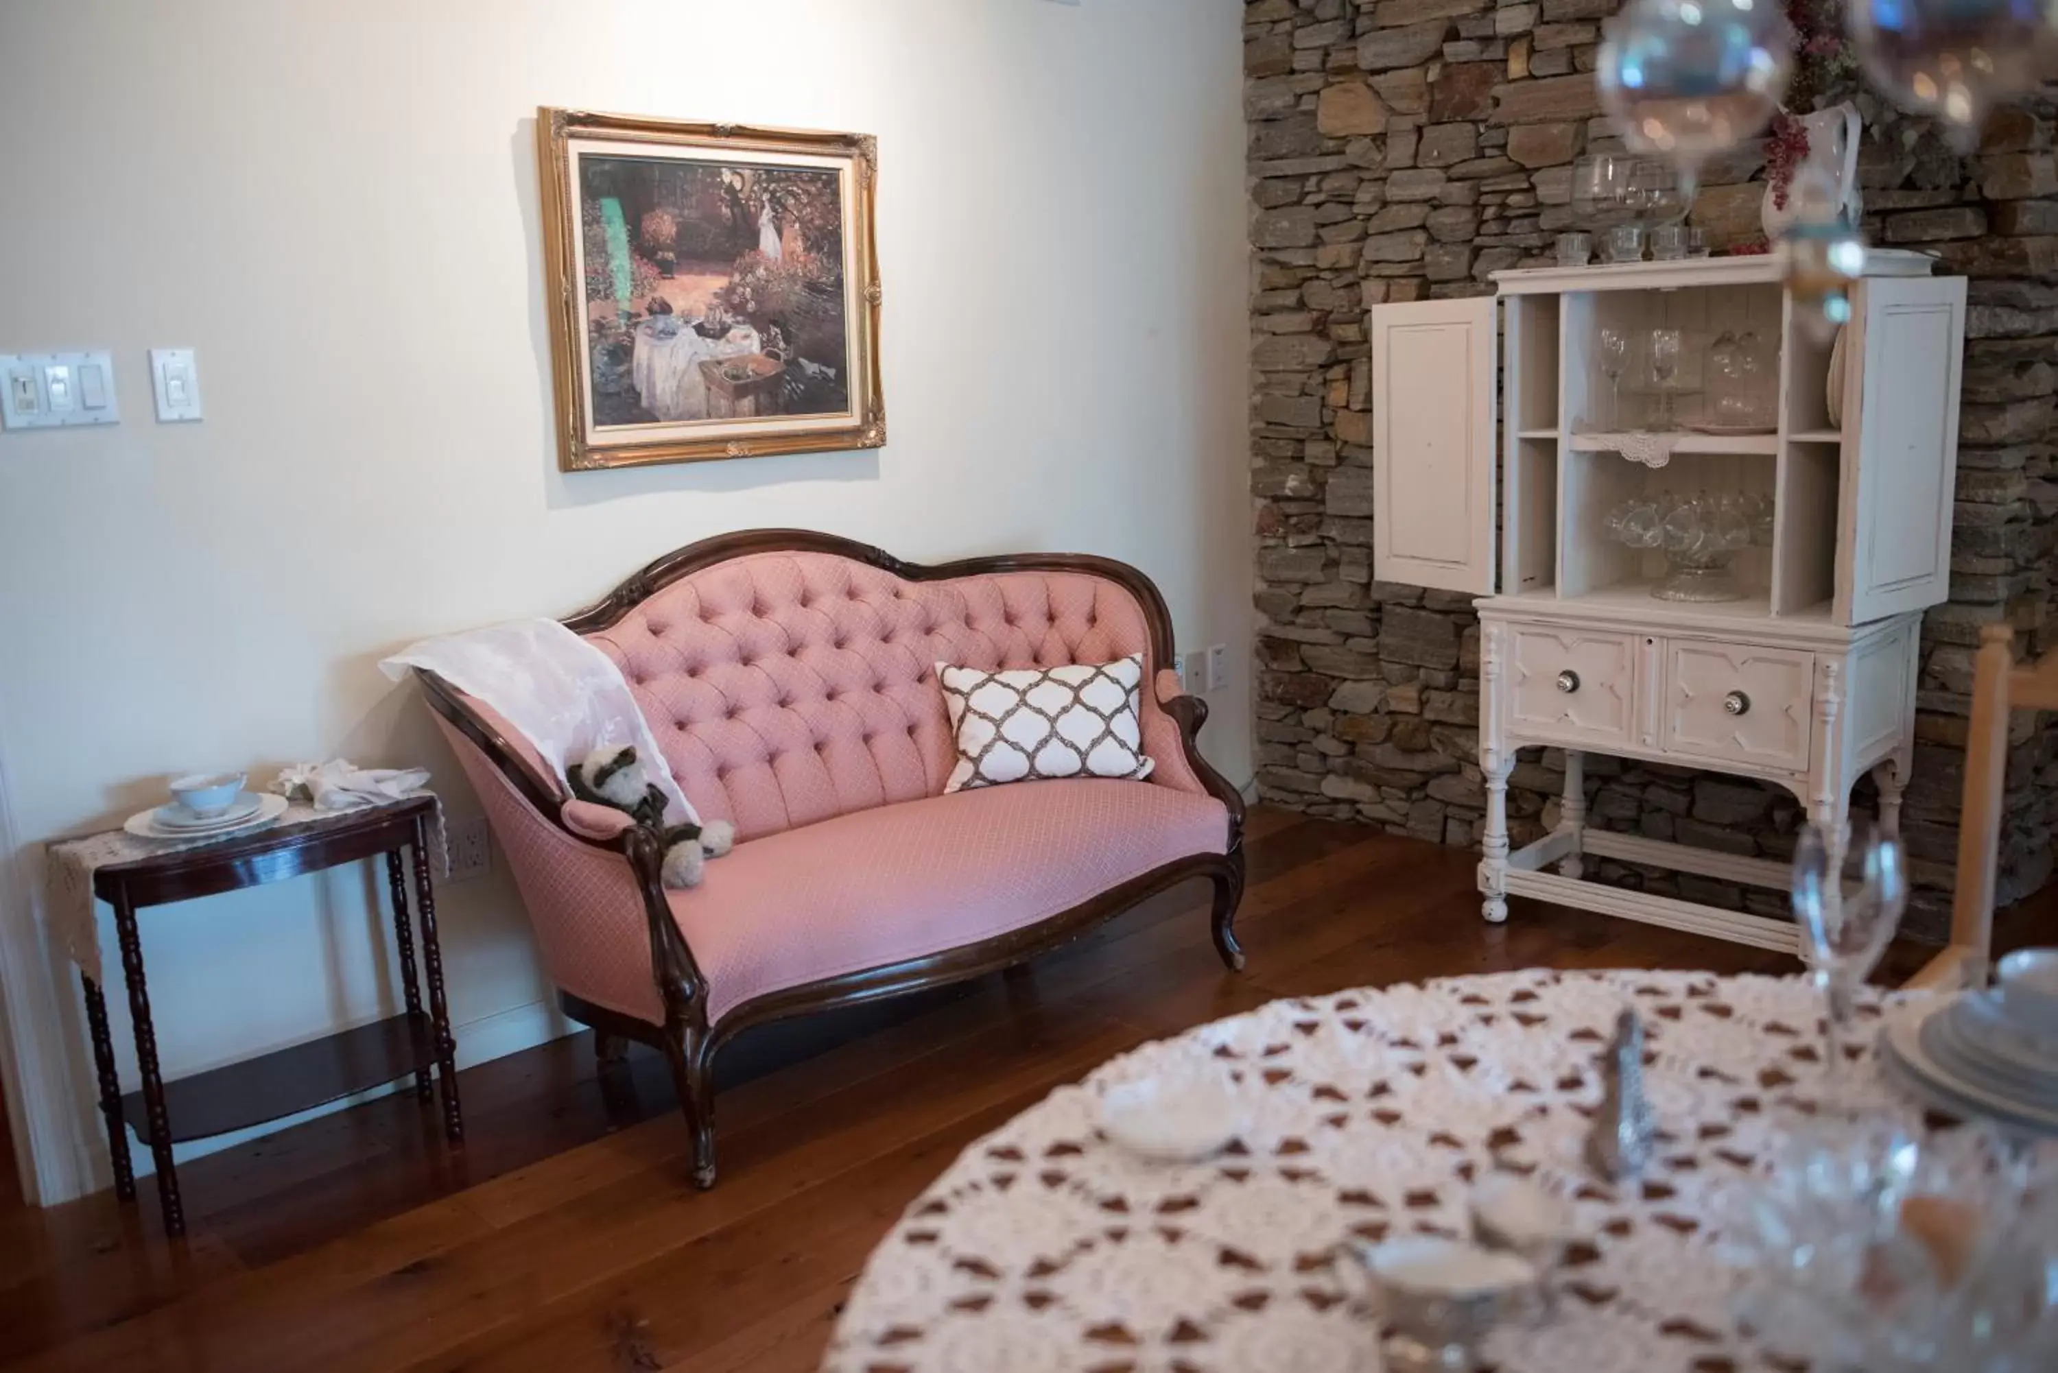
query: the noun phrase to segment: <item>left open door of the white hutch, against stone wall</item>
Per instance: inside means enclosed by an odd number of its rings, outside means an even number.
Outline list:
[[[1373,307],[1373,574],[1494,591],[1494,296]]]

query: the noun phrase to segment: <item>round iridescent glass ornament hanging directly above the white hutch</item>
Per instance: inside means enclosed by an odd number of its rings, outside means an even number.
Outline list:
[[[1679,167],[1692,198],[1702,163],[1772,119],[1793,43],[1776,0],[1636,0],[1601,43],[1601,105],[1630,148]]]

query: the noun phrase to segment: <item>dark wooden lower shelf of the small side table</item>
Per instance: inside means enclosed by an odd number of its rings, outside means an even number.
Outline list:
[[[424,1011],[405,1011],[261,1058],[181,1077],[165,1083],[171,1142],[183,1145],[261,1126],[280,1116],[383,1087],[410,1072],[426,1097],[428,1068],[436,1058],[436,1023]],[[121,1118],[144,1145],[156,1145],[150,1110],[140,1091],[121,1097]]]

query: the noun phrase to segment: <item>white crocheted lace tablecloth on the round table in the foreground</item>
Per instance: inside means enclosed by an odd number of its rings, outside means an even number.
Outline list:
[[[1624,1000],[1644,1017],[1663,1136],[1618,1192],[1581,1163],[1581,1107]],[[1716,1243],[1782,1103],[1819,1081],[1815,1005],[1795,978],[1535,970],[1278,1000],[1148,1044],[971,1145],[908,1208],[827,1369],[1377,1369],[1334,1245],[1463,1233],[1467,1180],[1496,1167],[1564,1196],[1591,1237],[1558,1317],[1488,1340],[1500,1373],[1793,1369],[1735,1332]],[[1152,1165],[1097,1136],[1105,1087],[1196,1056],[1249,1101],[1229,1155]]]

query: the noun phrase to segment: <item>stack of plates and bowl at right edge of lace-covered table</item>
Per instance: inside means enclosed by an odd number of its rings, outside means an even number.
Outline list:
[[[2058,1134],[2058,949],[2021,949],[1996,972],[1998,986],[1891,1021],[1881,1072],[1951,1116]]]

